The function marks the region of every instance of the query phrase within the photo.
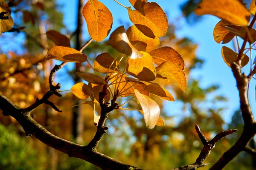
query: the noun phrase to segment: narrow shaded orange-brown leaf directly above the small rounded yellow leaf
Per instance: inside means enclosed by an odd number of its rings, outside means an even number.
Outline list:
[[[107,84],[102,77],[99,77],[95,74],[88,73],[88,72],[76,72],[76,75],[78,75],[80,78],[84,79],[87,82],[91,82],[96,85],[105,85]]]

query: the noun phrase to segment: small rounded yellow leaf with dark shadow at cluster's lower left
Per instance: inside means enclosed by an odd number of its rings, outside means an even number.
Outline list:
[[[79,99],[88,99],[90,97],[88,87],[83,82],[76,83],[72,86],[71,92]]]

